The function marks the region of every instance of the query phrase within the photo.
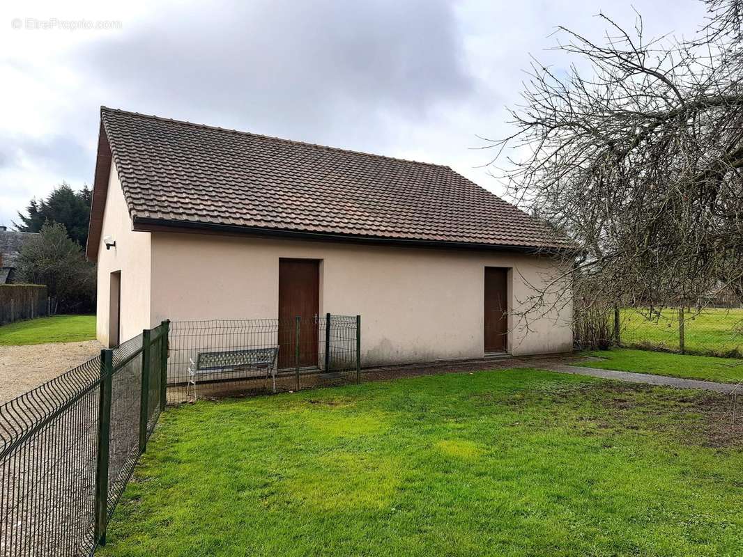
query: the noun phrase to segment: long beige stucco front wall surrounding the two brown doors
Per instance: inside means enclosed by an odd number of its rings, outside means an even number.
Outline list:
[[[129,240],[149,254],[146,241]],[[530,284],[545,284],[556,276],[549,258],[197,233],[152,234],[151,324],[162,319],[276,318],[282,257],[322,260],[320,313],[362,316],[363,365],[483,356],[486,266],[512,269],[512,354],[572,348],[570,302],[561,302],[559,312],[543,315],[542,306],[526,319],[518,315],[535,293]],[[141,270],[144,259],[138,258]],[[145,293],[149,283],[143,280]],[[548,300],[546,307],[551,305]]]

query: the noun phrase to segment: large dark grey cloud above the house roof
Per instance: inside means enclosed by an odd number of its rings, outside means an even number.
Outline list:
[[[110,36],[81,69],[106,83],[107,102],[125,92],[122,108],[320,142],[350,129],[371,142],[385,114],[425,120],[471,94],[455,25],[440,0],[225,1]]]

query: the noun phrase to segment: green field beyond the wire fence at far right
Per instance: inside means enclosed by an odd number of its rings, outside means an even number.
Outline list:
[[[686,313],[684,345],[687,352],[715,356],[743,356],[743,310],[707,309]],[[736,334],[736,330],[739,331]],[[678,313],[663,310],[647,319],[635,310],[623,310],[622,343],[678,351]]]

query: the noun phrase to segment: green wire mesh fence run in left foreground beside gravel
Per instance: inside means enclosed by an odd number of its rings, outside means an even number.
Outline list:
[[[0,405],[0,556],[89,555],[165,404],[169,322]]]

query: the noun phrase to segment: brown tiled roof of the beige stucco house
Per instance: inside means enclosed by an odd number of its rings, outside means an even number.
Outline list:
[[[568,246],[542,221],[448,166],[102,107],[89,258],[100,241],[111,156],[135,229]]]

